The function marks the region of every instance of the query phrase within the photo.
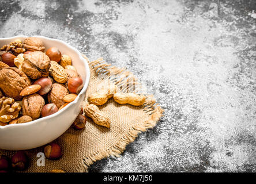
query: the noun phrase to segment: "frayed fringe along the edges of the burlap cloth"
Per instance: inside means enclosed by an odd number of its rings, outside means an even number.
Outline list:
[[[114,82],[116,85],[122,85],[123,82],[128,81],[128,78],[129,81],[133,81],[134,85],[140,85],[140,83],[137,82],[137,78],[135,78],[133,73],[130,71],[127,71],[124,68],[111,66],[111,64],[104,62],[102,58],[89,62],[89,59],[85,55],[83,56],[96,75],[102,75],[104,78],[108,78],[110,80],[111,76],[115,75],[115,81],[112,82]],[[116,76],[119,76],[120,79],[116,80]],[[124,92],[128,92],[128,90],[125,90]],[[138,124],[134,124],[130,130],[125,135],[123,135],[121,140],[119,140],[118,143],[112,147],[108,148],[108,150],[98,149],[95,153],[84,158],[81,164],[77,167],[77,171],[80,173],[88,172],[89,166],[91,166],[91,164],[97,160],[107,158],[108,156],[119,157],[122,152],[125,151],[126,145],[135,140],[135,138],[138,136],[138,133],[145,132],[146,129],[155,127],[156,122],[160,119],[161,116],[163,116],[163,109],[159,106],[159,104],[155,104],[153,95],[147,96],[147,100],[144,104],[144,111],[146,114],[148,114],[148,118],[142,122],[138,122]]]

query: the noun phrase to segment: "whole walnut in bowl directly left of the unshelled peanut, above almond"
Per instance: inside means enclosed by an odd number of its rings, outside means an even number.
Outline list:
[[[50,58],[43,52],[24,54],[21,69],[31,79],[39,79],[49,74]]]

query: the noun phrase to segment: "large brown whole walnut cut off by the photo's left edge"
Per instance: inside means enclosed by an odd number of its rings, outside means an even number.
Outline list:
[[[6,97],[20,101],[22,99],[20,92],[30,85],[31,81],[27,75],[18,68],[0,67],[0,89]]]

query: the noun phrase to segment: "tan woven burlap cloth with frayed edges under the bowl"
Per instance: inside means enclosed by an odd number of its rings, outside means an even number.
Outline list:
[[[85,57],[85,56],[84,56]],[[140,92],[140,83],[135,76],[123,69],[111,66],[97,59],[88,61],[91,69],[86,97],[99,90],[108,82],[114,82],[123,92]],[[127,83],[133,85],[131,89]],[[85,99],[84,105],[87,101]],[[87,118],[84,129],[77,131],[69,128],[61,137],[54,142],[62,148],[63,156],[59,160],[45,160],[45,166],[37,166],[37,154],[44,151],[44,147],[27,150],[29,157],[29,168],[25,172],[50,172],[54,169],[62,169],[66,172],[86,172],[88,167],[97,160],[108,156],[119,156],[127,144],[134,141],[138,133],[153,128],[161,117],[163,110],[159,105],[154,105],[152,95],[146,98],[144,106],[135,107],[132,105],[119,105],[112,98],[102,106],[100,110],[106,113],[111,120],[111,128],[96,125],[91,118]],[[0,140],[1,141],[1,140]],[[7,155],[9,158],[15,151],[0,150],[0,155]]]

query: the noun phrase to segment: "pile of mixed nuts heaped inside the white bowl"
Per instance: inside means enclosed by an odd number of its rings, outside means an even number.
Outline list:
[[[83,82],[71,58],[57,47],[44,52],[28,37],[0,51],[0,125],[20,124],[58,112],[76,99]]]

